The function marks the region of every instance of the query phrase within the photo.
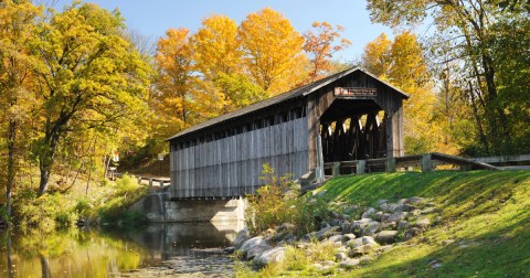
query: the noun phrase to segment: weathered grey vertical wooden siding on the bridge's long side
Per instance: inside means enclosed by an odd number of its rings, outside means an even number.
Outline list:
[[[309,170],[307,118],[171,150],[173,199],[230,197],[263,184],[262,165],[297,179]]]

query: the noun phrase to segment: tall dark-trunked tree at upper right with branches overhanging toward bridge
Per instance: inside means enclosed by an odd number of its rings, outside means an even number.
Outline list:
[[[436,32],[432,38],[436,43],[451,44],[451,60],[459,61],[462,72],[468,73],[463,76],[468,83],[468,92],[473,94],[473,101],[476,105],[474,110],[480,117],[484,127],[476,126],[477,129],[484,128],[488,148],[483,148],[483,154],[509,153],[516,151],[513,135],[517,132],[513,121],[517,118],[510,117],[515,111],[510,104],[504,99],[502,87],[499,79],[500,68],[505,60],[495,51],[496,45],[504,44],[513,53],[519,47],[528,49],[527,43],[518,44],[502,43],[509,40],[510,32],[504,32],[504,28],[497,29],[502,22],[510,22],[508,25],[524,25],[528,20],[529,9],[524,1],[506,0],[462,0],[462,1],[388,1],[369,0],[368,9],[374,22],[381,22],[391,26],[413,25],[425,22],[427,18],[436,26]],[[506,20],[505,20],[506,19]],[[508,28],[505,25],[505,28]],[[526,32],[528,34],[528,32]],[[528,36],[527,36],[528,38]],[[432,47],[439,45],[433,44]],[[511,46],[516,46],[513,49]],[[433,56],[435,60],[437,56]],[[439,57],[439,56],[438,56]],[[444,63],[444,61],[437,61]],[[528,68],[527,66],[524,66]],[[508,68],[502,68],[505,74],[518,73],[512,64]],[[470,99],[470,98],[469,98]],[[475,154],[478,154],[475,152]]]

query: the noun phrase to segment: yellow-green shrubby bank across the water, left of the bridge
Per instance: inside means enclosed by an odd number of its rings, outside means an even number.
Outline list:
[[[148,188],[134,177],[116,181],[103,180],[86,191],[82,180],[66,192],[50,191],[36,197],[36,190],[25,188],[13,197],[12,223],[22,229],[51,232],[73,226],[77,220],[91,225],[135,225],[144,215],[127,212],[127,207],[148,194]]]

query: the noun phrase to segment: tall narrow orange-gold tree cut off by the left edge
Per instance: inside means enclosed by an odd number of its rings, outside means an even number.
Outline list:
[[[23,122],[28,119],[30,104],[34,100],[28,89],[31,72],[36,66],[31,44],[35,40],[35,21],[42,9],[29,1],[0,2],[0,114],[1,128],[6,130],[7,169],[6,170],[6,203],[7,214],[11,214],[11,191],[14,185],[17,149],[20,149],[26,138],[19,137]],[[3,171],[2,171],[3,172]],[[3,183],[3,182],[2,182]]]

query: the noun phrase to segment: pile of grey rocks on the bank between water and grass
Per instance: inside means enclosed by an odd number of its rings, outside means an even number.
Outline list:
[[[335,203],[340,210],[330,211],[329,221],[321,223],[321,228],[301,237],[294,234],[295,226],[284,223],[276,229],[251,237],[248,231],[237,234],[227,253],[237,250],[243,259],[252,260],[257,266],[280,261],[285,257],[286,247],[305,249],[311,242],[332,244],[336,246],[335,261],[320,261],[317,268],[329,268],[335,265],[351,268],[370,255],[385,252],[394,243],[421,236],[434,222],[439,221],[435,214],[438,209],[424,197],[402,199],[391,203],[379,200],[374,207],[361,207]],[[320,266],[320,267],[319,267]]]

